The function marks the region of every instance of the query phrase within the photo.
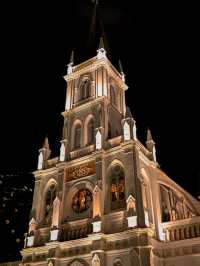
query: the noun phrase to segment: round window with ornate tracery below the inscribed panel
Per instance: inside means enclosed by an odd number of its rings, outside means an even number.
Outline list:
[[[88,210],[92,203],[92,193],[88,189],[80,189],[72,199],[72,209],[76,213]]]

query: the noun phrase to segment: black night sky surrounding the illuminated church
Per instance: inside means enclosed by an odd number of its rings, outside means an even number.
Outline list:
[[[23,246],[30,173],[47,134],[52,156],[59,153],[71,50],[75,64],[95,56],[102,34],[110,60],[116,68],[122,62],[138,138],[144,143],[150,128],[161,169],[200,195],[197,10],[183,3],[99,0],[95,29],[91,0],[1,7],[0,234],[6,244],[0,261],[17,259]]]

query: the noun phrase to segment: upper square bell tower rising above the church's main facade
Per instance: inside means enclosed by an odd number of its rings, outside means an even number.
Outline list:
[[[121,121],[126,113],[128,87],[123,75],[106,57],[102,38],[97,55],[77,66],[73,66],[71,59],[64,78],[67,93],[63,139],[67,143],[68,158],[73,151],[82,150],[82,156],[89,151],[89,146],[93,145],[90,147],[93,150],[100,149],[107,145],[108,139],[122,135]],[[100,138],[101,144],[96,147]]]

